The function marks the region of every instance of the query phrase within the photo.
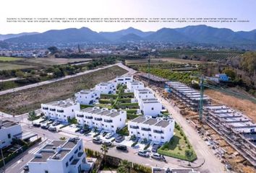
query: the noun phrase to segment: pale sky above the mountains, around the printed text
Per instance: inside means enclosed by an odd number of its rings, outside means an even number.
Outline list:
[[[234,31],[256,29],[255,0],[1,0],[0,34],[45,32],[89,27],[96,32],[135,27],[155,31],[162,27],[208,25]],[[243,23],[8,23],[12,17],[232,17]]]

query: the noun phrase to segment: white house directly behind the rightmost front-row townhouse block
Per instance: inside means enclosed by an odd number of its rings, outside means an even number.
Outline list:
[[[161,114],[162,104],[158,99],[139,99],[140,110],[143,115],[157,117]]]

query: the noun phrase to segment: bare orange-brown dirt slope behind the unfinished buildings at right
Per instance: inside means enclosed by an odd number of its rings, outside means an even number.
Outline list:
[[[250,102],[247,99],[238,99],[236,97],[232,97],[212,89],[206,89],[205,94],[213,99],[213,103],[219,105],[227,105],[229,107],[232,107],[234,110],[239,110],[256,122],[255,103]]]

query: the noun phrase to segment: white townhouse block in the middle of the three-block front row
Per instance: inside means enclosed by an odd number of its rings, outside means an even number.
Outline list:
[[[80,125],[97,127],[99,130],[116,132],[124,128],[127,112],[124,110],[108,110],[107,108],[87,107],[76,111],[75,116]]]

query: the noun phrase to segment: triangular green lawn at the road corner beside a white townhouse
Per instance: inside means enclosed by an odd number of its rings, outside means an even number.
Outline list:
[[[197,159],[197,155],[195,154],[195,151],[193,150],[191,144],[189,144],[187,136],[185,136],[182,130],[178,129],[174,129],[174,136],[171,138],[171,141],[163,144],[163,146],[161,146],[161,148],[158,149],[158,153],[166,156],[171,156],[177,159],[194,161],[195,159]],[[185,155],[186,150],[191,150],[194,152],[190,159],[188,159],[187,156]]]

